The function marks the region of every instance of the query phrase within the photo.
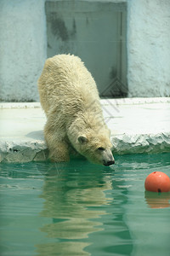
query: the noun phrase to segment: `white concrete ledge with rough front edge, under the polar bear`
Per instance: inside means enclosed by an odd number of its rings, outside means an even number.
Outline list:
[[[170,152],[170,98],[101,100],[114,154]],[[0,103],[0,161],[47,160],[38,102]]]

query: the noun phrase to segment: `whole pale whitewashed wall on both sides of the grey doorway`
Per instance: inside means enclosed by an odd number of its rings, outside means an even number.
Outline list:
[[[44,1],[0,1],[0,100],[38,101],[47,56]],[[170,96],[169,45],[170,1],[128,0],[128,96]]]

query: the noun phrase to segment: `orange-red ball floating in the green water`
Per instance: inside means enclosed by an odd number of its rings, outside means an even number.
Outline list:
[[[164,172],[151,172],[145,179],[144,187],[152,192],[169,192],[170,178]]]

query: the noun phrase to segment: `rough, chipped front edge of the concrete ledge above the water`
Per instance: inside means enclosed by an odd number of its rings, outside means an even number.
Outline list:
[[[113,154],[156,154],[170,152],[170,133],[120,135],[112,137]],[[157,142],[157,143],[155,143]],[[48,149],[44,142],[1,142],[0,162],[30,162],[47,160]]]

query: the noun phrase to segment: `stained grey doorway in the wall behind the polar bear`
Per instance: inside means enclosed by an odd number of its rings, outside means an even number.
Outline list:
[[[78,55],[102,97],[127,96],[127,4],[46,1],[48,57]]]

